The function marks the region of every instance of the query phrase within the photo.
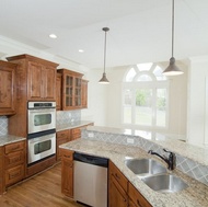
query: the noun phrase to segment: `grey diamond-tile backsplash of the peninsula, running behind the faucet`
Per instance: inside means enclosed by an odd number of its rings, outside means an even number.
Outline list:
[[[107,141],[107,142],[118,143],[118,145],[140,147],[146,151],[149,151],[151,149],[160,154],[165,153],[161,146],[148,139],[143,139],[139,136],[119,135],[119,134],[101,133],[101,131],[95,131],[95,130],[90,130],[90,129],[83,129],[81,137],[83,139],[100,140],[100,141]],[[134,139],[134,143],[129,143],[128,142],[129,139]],[[196,161],[193,161],[186,157],[183,157],[176,153],[176,168],[183,173],[192,176],[193,179],[208,185],[208,166],[207,165],[203,165]]]

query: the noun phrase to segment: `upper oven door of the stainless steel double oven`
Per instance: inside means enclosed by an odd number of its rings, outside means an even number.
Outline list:
[[[28,134],[56,128],[56,108],[28,110]]]

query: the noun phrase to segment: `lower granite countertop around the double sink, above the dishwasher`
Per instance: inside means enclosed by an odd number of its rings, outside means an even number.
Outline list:
[[[186,189],[178,193],[159,193],[149,188],[137,175],[135,175],[126,165],[125,159],[130,158],[152,158],[161,162],[157,157],[148,154],[139,147],[129,147],[115,145],[105,141],[95,141],[78,139],[63,143],[60,148],[74,150],[82,153],[99,156],[111,159],[132,185],[146,197],[153,207],[207,207],[208,206],[208,186],[187,176],[178,170],[173,174],[182,177],[188,185]],[[163,162],[161,162],[163,163]],[[163,163],[164,164],[164,163]]]

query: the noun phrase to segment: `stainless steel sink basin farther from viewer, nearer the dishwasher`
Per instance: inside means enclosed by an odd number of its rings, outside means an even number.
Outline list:
[[[160,162],[152,159],[128,159],[125,164],[140,177],[166,172],[166,169]]]

